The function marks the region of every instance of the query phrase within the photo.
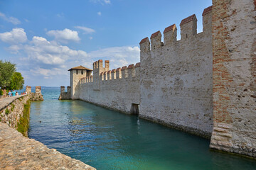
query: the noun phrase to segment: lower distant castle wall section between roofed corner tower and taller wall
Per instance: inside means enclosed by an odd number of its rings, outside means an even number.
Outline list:
[[[111,71],[109,64],[107,61],[107,67],[103,67],[102,60],[93,64],[93,77],[80,79],[79,98],[124,113],[137,114],[134,108],[140,103],[139,63]]]

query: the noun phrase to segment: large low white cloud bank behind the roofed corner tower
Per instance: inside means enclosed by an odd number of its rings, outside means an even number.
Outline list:
[[[19,52],[17,67],[23,77],[26,77],[26,84],[29,85],[68,85],[68,69],[78,65],[92,69],[92,63],[100,59],[110,60],[110,69],[139,62],[137,46],[108,47],[87,53],[82,50],[72,50],[55,40],[49,41],[39,36],[34,36],[24,44],[11,44],[7,50],[13,53]],[[25,56],[22,56],[23,54]]]

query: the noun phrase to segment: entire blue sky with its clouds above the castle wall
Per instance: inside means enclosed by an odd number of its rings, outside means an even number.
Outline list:
[[[0,0],[0,60],[16,63],[30,86],[69,85],[68,69],[139,62],[139,42],[193,13],[202,29],[211,0]]]

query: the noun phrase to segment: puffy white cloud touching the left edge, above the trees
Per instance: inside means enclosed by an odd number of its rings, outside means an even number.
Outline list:
[[[23,28],[14,28],[10,32],[0,33],[0,40],[10,44],[18,44],[26,42],[27,36]]]

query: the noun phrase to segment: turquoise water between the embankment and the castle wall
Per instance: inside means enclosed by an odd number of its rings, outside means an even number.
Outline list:
[[[211,152],[209,140],[84,101],[58,101],[43,87],[28,136],[100,169],[256,169],[256,161]]]

